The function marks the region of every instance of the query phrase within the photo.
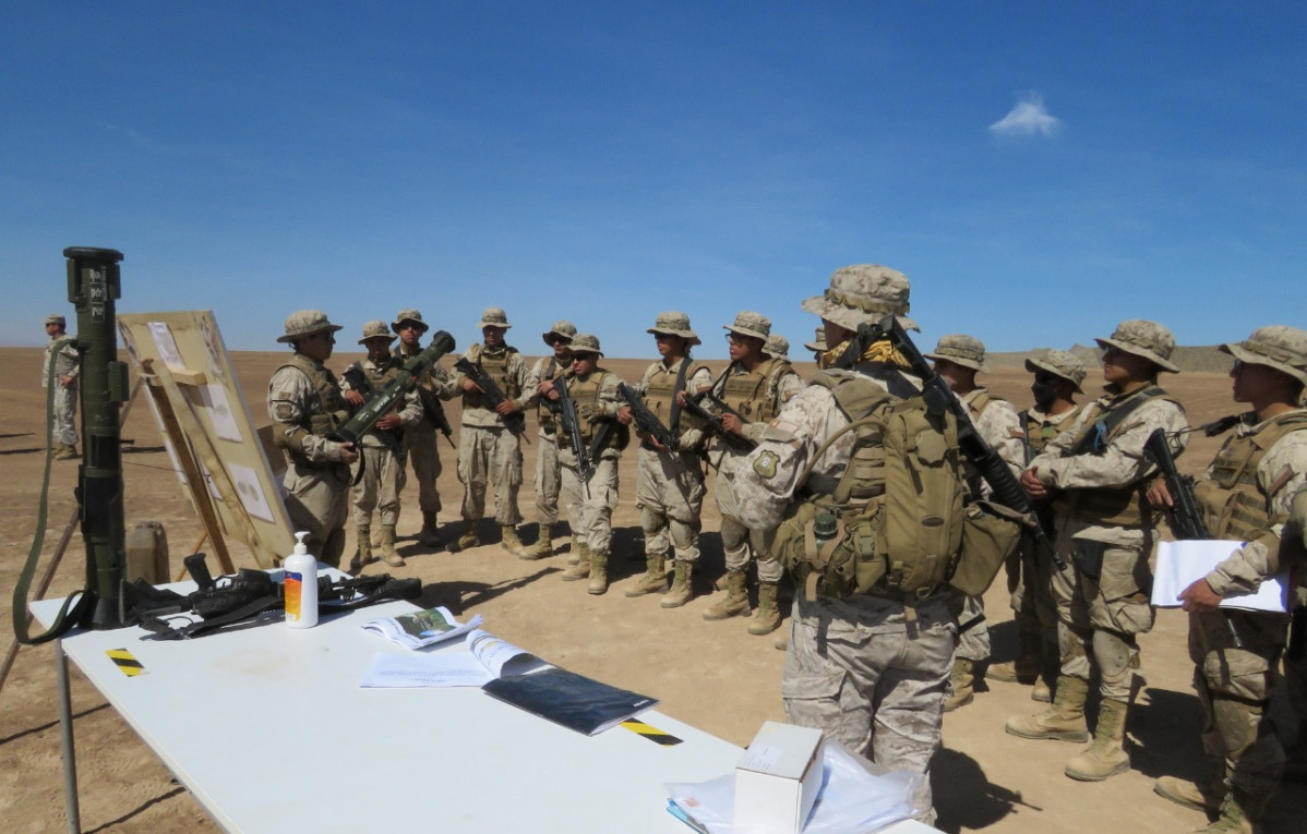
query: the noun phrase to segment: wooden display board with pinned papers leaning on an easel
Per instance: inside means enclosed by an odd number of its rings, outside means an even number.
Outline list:
[[[213,313],[119,313],[118,330],[222,570],[231,540],[273,566],[294,546],[290,517]]]

